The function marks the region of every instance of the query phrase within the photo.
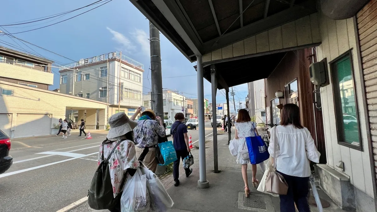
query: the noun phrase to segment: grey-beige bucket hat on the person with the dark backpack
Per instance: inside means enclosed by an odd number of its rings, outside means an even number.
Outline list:
[[[124,112],[116,113],[109,118],[110,130],[107,134],[107,139],[120,137],[127,132],[133,131],[133,128],[138,124],[137,121],[132,121]]]

